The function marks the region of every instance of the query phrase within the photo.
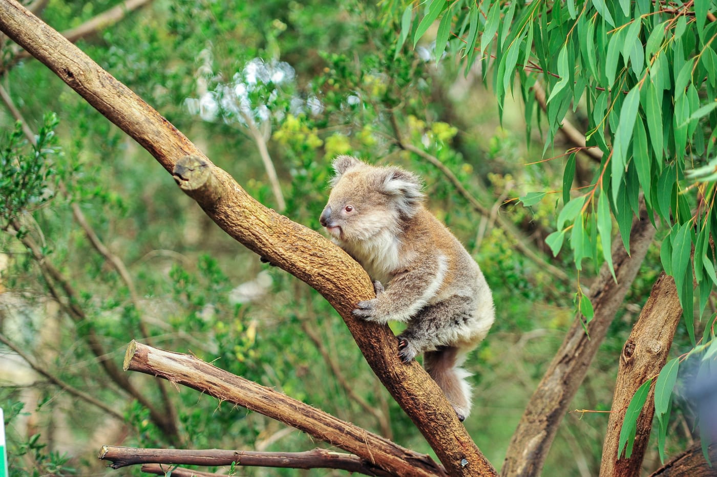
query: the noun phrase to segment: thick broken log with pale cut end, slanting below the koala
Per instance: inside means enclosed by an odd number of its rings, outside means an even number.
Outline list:
[[[346,423],[270,387],[220,370],[194,356],[158,350],[133,341],[127,347],[124,367],[125,370],[163,377],[175,385],[184,385],[217,397],[220,402],[229,401],[279,420],[396,475],[445,475],[443,469],[428,456],[402,448],[380,435]]]

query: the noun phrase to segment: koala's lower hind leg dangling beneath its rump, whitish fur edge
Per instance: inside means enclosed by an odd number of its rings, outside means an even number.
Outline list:
[[[423,367],[443,390],[459,420],[470,414],[470,385],[466,377],[470,373],[458,367],[465,359],[465,353],[455,346],[441,347],[423,355]]]

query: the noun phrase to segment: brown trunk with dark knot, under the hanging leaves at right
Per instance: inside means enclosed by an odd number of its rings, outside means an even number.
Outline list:
[[[630,458],[618,458],[618,442],[625,410],[642,383],[655,377],[665,366],[675,330],[682,317],[682,307],[675,288],[675,279],[660,274],[652,286],[650,298],[642,307],[630,337],[622,347],[619,370],[612,398],[612,412],[607,435],[602,445],[601,476],[640,475],[642,458],[650,440],[652,416],[655,414],[655,387],[650,387],[647,401],[637,418],[637,432]]]

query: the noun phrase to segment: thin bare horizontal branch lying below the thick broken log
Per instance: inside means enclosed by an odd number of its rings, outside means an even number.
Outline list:
[[[145,463],[184,466],[230,466],[235,463],[237,466],[253,467],[335,468],[365,476],[391,475],[359,456],[319,448],[305,452],[256,452],[221,449],[138,449],[103,445],[99,458],[112,462],[109,467],[115,469]]]

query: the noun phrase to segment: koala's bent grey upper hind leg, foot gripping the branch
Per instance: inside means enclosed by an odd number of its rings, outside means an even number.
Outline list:
[[[424,307],[399,334],[399,356],[409,362],[422,352],[455,344],[466,336],[475,307],[470,297],[452,297]]]

